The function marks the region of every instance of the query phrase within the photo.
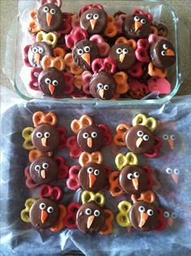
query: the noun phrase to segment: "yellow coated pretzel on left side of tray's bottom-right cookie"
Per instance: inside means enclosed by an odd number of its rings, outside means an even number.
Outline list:
[[[131,207],[131,203],[128,201],[122,201],[118,204],[119,213],[116,216],[116,220],[118,225],[121,227],[129,227],[131,226],[129,221],[129,210]]]

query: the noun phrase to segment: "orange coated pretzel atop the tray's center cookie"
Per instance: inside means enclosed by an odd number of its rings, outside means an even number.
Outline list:
[[[87,163],[99,163],[102,164],[104,161],[103,155],[97,151],[91,154],[83,152],[79,156],[79,164],[83,167]]]

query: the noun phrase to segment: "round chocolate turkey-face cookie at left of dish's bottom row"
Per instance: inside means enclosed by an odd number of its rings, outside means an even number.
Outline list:
[[[63,73],[57,68],[49,67],[40,72],[38,77],[40,91],[47,96],[62,96],[65,89],[65,80]]]

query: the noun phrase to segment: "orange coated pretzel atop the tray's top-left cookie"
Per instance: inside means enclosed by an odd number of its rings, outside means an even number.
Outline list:
[[[57,115],[53,112],[46,114],[42,111],[37,111],[32,115],[32,121],[34,127],[37,127],[39,124],[50,124],[55,126],[57,124]]]

